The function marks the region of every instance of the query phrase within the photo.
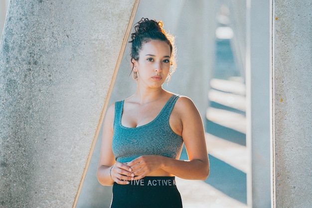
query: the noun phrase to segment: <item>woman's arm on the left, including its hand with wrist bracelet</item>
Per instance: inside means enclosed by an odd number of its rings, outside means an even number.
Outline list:
[[[114,181],[118,184],[128,184],[127,181],[133,180],[134,176],[131,173],[132,169],[129,166],[115,161],[112,151],[114,114],[115,105],[111,105],[107,110],[103,123],[101,153],[97,170],[97,178],[99,183],[104,186],[112,186]],[[111,175],[109,172],[111,172]]]

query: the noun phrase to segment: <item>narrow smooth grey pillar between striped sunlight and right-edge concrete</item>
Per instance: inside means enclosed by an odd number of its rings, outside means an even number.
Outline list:
[[[270,1],[247,0],[246,145],[251,156],[247,204],[270,208]]]

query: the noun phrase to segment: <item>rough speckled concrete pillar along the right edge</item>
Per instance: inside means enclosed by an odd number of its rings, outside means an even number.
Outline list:
[[[311,208],[312,2],[273,1],[273,208]]]

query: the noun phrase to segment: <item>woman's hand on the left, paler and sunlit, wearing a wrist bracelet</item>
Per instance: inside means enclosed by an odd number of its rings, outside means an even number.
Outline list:
[[[116,162],[111,168],[111,179],[117,184],[126,185],[134,180],[134,173],[127,163]]]

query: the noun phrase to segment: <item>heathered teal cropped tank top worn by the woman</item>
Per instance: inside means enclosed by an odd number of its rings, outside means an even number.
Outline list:
[[[153,121],[136,128],[121,124],[124,100],[115,103],[112,150],[116,161],[126,163],[143,155],[179,159],[183,139],[169,125],[169,117],[178,97],[172,95]]]

